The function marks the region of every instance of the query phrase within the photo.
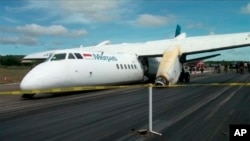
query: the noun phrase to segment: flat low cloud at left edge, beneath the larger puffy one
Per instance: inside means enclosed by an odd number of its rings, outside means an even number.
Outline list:
[[[36,45],[38,43],[37,38],[33,37],[0,37],[0,44],[8,45]]]

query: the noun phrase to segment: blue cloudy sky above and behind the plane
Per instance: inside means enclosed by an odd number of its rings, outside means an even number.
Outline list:
[[[250,32],[250,0],[0,0],[0,55]],[[250,47],[215,60],[250,60]]]

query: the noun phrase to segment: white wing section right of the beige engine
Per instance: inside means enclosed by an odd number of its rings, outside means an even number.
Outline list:
[[[197,54],[250,46],[250,32],[189,37],[180,42],[183,54]]]

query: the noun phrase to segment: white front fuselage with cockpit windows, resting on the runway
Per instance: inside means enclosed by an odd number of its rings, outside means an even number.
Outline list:
[[[75,53],[82,58],[77,59]],[[33,68],[20,86],[23,90],[32,90],[111,85],[139,82],[143,77],[143,67],[133,54],[62,51]]]

